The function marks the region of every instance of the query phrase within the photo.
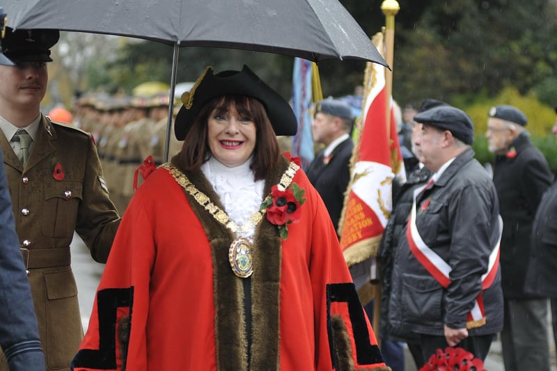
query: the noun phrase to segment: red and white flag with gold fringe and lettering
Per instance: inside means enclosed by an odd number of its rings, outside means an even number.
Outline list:
[[[373,37],[379,51],[382,33]],[[385,68],[368,63],[364,74],[361,134],[351,160],[351,180],[340,217],[340,246],[350,267],[375,257],[391,215],[393,178],[405,180],[393,109],[387,116]]]

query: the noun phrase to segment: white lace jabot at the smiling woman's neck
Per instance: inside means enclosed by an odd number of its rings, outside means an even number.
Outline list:
[[[240,166],[230,168],[214,157],[201,165],[201,171],[219,195],[226,214],[239,226],[249,220],[249,216],[259,210],[263,201],[264,180],[253,181],[253,171],[249,168],[251,158]],[[242,237],[253,240],[256,226]]]

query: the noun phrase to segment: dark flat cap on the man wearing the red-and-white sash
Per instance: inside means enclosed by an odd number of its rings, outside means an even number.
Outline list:
[[[472,144],[474,141],[474,125],[470,117],[464,111],[448,104],[417,113],[414,121],[448,130],[463,143]]]

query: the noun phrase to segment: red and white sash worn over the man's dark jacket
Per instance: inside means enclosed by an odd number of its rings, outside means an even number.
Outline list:
[[[416,227],[416,198],[431,185],[432,181],[425,184],[424,187],[419,187],[414,190],[414,203],[412,204],[406,235],[410,251],[414,254],[418,262],[423,265],[423,267],[437,280],[437,282],[439,282],[441,286],[447,288],[450,284],[449,274],[452,268],[435,251],[427,246],[425,242],[423,242],[420,232],[418,232],[418,228]],[[482,275],[482,290],[485,290],[487,287],[492,285],[497,274],[497,269],[499,268],[499,246],[501,244],[502,234],[503,219],[499,216],[499,237],[497,237],[497,242],[493,247],[492,252],[489,253],[489,265],[485,274]],[[466,319],[466,328],[473,329],[474,327],[483,326],[484,324],[485,312],[482,293],[480,292],[474,302],[472,310],[468,314],[468,318]]]

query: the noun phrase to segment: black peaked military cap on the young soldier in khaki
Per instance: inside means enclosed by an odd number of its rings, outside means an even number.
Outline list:
[[[47,29],[17,29],[6,27],[3,52],[15,63],[52,62],[50,48],[58,42],[60,32]]]

